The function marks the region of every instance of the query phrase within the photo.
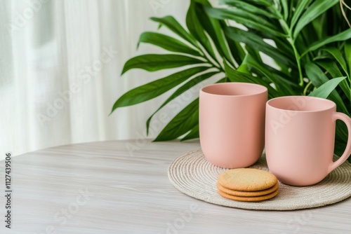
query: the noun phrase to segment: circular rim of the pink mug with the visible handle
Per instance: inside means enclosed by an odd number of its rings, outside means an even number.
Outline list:
[[[313,99],[313,100],[317,100],[319,102],[327,102],[329,103],[331,106],[329,107],[325,107],[325,108],[319,108],[319,109],[315,109],[315,110],[290,110],[290,109],[282,109],[279,108],[277,106],[273,106],[272,102],[277,101],[277,99],[293,99],[296,97],[303,97],[304,99]],[[270,107],[272,109],[277,109],[277,110],[282,110],[282,111],[291,111],[291,112],[298,112],[298,113],[316,113],[316,112],[323,112],[323,111],[329,111],[329,110],[333,110],[336,109],[336,103],[326,99],[326,98],[322,98],[322,97],[310,97],[310,96],[303,96],[303,95],[293,95],[293,96],[282,96],[282,97],[274,97],[272,99],[269,99],[266,102],[266,106]]]

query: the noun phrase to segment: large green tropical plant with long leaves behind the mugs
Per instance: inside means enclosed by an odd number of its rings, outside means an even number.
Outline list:
[[[340,3],[340,4],[339,4]],[[339,0],[192,0],[186,28],[172,16],[151,18],[174,36],[144,32],[139,43],[167,50],[139,55],[130,69],[159,71],[182,68],[119,97],[112,112],[173,90],[154,113],[190,88],[213,77],[215,82],[265,85],[269,97],[312,95],[336,102],[351,113],[350,11]],[[199,137],[199,99],[191,101],[164,127],[155,141]],[[147,120],[147,130],[154,113]],[[339,121],[338,121],[339,122]],[[347,128],[337,123],[336,153],[345,149]]]

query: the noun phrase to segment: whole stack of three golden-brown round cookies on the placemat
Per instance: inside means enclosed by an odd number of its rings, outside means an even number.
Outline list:
[[[241,202],[259,202],[279,193],[277,177],[253,168],[227,170],[218,176],[218,193]]]

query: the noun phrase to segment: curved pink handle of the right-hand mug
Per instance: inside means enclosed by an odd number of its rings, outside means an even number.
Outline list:
[[[336,121],[338,119],[340,121],[343,121],[346,124],[349,137],[347,140],[345,152],[338,160],[336,160],[335,162],[333,162],[329,165],[328,173],[331,172],[332,170],[336,169],[336,167],[340,166],[342,163],[344,163],[345,160],[347,160],[347,158],[351,154],[351,118],[349,116],[347,116],[345,113],[334,112],[333,113],[333,121]]]

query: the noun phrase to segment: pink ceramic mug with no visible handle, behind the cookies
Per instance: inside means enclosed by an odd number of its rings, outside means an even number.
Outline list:
[[[219,167],[249,167],[265,145],[267,88],[253,83],[217,83],[200,90],[201,149]]]

